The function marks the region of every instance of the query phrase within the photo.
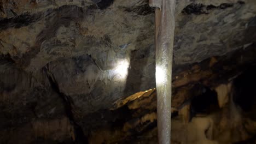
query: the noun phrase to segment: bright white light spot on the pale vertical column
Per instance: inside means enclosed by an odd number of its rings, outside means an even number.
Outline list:
[[[166,83],[166,68],[161,67],[161,66],[156,66],[155,68],[155,80],[156,80],[156,85],[163,85]]]

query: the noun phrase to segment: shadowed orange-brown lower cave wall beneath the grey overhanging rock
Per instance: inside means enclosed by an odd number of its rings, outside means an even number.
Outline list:
[[[255,143],[255,81],[247,86],[255,78],[254,71],[255,65],[212,88],[201,84],[201,93],[191,95],[180,107],[172,107],[171,142]],[[189,92],[198,88],[195,85]],[[89,143],[157,143],[155,89],[118,100],[110,111],[88,116],[104,122],[88,121],[88,129],[92,129]]]

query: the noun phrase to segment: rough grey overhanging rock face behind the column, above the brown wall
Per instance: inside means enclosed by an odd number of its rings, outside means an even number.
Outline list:
[[[11,135],[29,137],[20,143],[90,141],[88,115],[155,87],[154,8],[146,0],[9,0],[0,2],[0,18],[0,143],[16,142]],[[214,88],[255,64],[255,40],[256,1],[178,1],[175,109],[196,95],[195,83]],[[34,126],[55,123],[44,132]]]

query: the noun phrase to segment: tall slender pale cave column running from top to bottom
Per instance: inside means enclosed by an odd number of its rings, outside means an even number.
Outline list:
[[[149,0],[155,8],[158,143],[171,143],[172,56],[176,0]]]

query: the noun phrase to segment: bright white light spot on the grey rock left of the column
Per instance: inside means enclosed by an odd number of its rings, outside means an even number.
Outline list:
[[[119,61],[115,67],[115,73],[120,75],[122,79],[126,78],[128,74],[129,62],[127,60]]]

